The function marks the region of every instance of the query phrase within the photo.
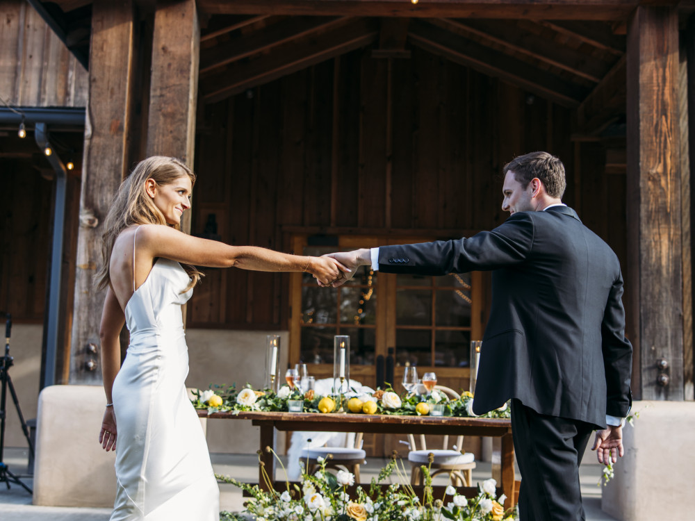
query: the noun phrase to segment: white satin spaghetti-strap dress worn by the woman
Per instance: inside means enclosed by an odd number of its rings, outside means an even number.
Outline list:
[[[181,291],[188,282],[179,263],[159,258],[125,308],[130,345],[112,392],[118,436],[111,521],[220,519],[220,489],[184,384],[181,304],[193,290]]]

